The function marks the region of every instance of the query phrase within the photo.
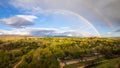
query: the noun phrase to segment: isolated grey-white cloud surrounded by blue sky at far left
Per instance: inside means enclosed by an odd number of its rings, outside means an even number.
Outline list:
[[[9,18],[2,18],[0,21],[14,28],[21,28],[24,26],[34,25],[33,21],[36,18],[37,17],[33,15],[16,15]]]

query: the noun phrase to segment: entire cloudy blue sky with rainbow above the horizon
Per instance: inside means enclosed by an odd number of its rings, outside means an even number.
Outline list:
[[[0,0],[0,35],[120,37],[120,0]]]

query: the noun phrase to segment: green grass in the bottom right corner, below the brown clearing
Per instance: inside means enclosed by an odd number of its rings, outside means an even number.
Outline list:
[[[114,58],[114,59],[101,58],[99,60],[96,60],[96,62],[97,61],[101,61],[102,63],[90,68],[120,68],[120,58]],[[84,66],[88,62],[90,61],[70,64],[70,65],[64,66],[64,68],[78,68],[78,67]]]

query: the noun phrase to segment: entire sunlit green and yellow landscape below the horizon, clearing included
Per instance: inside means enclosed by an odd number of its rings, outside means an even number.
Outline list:
[[[0,37],[0,68],[119,68],[119,60],[119,38]]]

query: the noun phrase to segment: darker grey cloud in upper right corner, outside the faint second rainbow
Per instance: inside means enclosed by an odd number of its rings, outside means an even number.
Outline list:
[[[103,3],[105,2],[105,3]],[[120,26],[120,0],[105,0],[101,5],[96,3],[95,6],[103,13],[103,15],[110,20],[114,27]],[[102,5],[103,4],[103,5]]]

